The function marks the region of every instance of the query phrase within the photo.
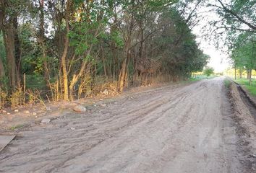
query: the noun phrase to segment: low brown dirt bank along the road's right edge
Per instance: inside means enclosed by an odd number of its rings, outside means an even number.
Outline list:
[[[236,130],[241,136],[238,143],[244,151],[247,151],[248,166],[256,171],[256,107],[240,86],[231,82],[229,89],[231,104],[234,108],[234,121],[238,127]]]

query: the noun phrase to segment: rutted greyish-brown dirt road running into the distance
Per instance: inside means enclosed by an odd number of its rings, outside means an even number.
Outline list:
[[[247,172],[223,78],[166,86],[20,132],[0,172]]]

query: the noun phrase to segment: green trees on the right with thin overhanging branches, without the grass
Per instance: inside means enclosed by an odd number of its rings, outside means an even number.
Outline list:
[[[242,78],[243,71],[247,71],[250,84],[252,69],[256,69],[256,1],[216,0],[208,6],[213,6],[220,17],[212,22],[211,33],[217,40],[224,38],[223,45],[228,47],[235,77]],[[236,76],[237,71],[239,76]]]

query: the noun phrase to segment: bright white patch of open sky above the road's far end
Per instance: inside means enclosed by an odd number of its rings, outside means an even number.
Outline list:
[[[205,54],[210,56],[210,61],[208,66],[213,67],[216,73],[223,72],[226,68],[230,66],[229,57],[221,50],[216,49],[214,42],[216,40],[205,40],[202,38],[203,32],[202,28],[208,25],[208,22],[218,19],[218,15],[215,12],[208,12],[210,7],[202,6],[197,12],[202,13],[204,19],[200,20],[197,26],[192,28],[192,32],[197,35],[197,43],[200,44],[201,50]]]

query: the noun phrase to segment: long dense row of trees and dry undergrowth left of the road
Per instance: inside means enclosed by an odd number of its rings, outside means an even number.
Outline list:
[[[0,0],[0,108],[188,79],[209,58],[191,32],[198,6]]]

